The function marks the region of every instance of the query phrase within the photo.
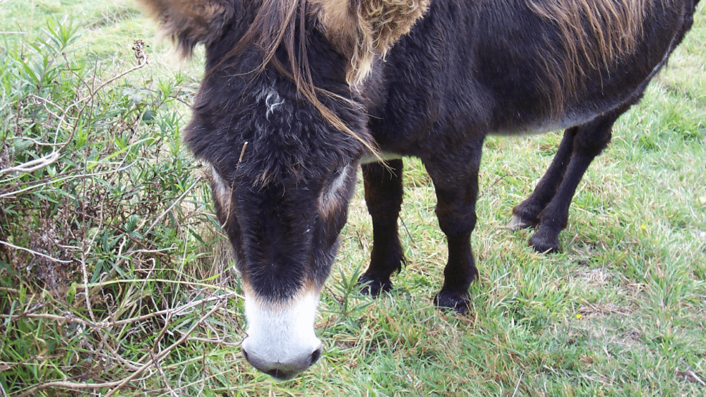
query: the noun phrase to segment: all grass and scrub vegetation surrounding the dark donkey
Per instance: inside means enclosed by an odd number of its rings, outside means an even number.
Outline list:
[[[0,32],[0,396],[706,395],[703,5],[587,172],[558,255],[505,224],[561,135],[487,140],[472,314],[431,305],[445,243],[414,159],[407,267],[390,295],[357,295],[360,186],[317,319],[323,358],[285,383],[244,362],[208,175],[179,145],[199,57],[174,66],[126,0],[0,0]]]

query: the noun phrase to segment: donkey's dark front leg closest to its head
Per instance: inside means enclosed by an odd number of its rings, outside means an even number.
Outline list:
[[[390,275],[402,269],[400,239],[397,236],[397,218],[402,206],[402,159],[381,163],[362,164],[365,202],[373,219],[373,251],[370,266],[361,274],[358,285],[361,293],[373,296],[390,291]]]

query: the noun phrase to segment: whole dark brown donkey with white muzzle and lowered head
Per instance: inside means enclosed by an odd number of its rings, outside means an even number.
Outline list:
[[[486,135],[566,128],[510,222],[536,228],[537,251],[556,251],[583,173],[681,42],[698,3],[142,1],[184,55],[205,44],[186,142],[213,167],[217,216],[246,297],[243,353],[280,379],[321,355],[316,305],[359,164],[373,219],[363,291],[388,291],[400,270],[401,157],[415,156],[448,238],[434,303],[466,312]]]

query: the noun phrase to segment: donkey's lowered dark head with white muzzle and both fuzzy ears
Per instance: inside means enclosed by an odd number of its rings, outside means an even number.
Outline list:
[[[246,360],[289,379],[321,355],[313,324],[373,150],[357,88],[428,0],[143,0],[206,73],[186,142],[213,170],[245,292]]]

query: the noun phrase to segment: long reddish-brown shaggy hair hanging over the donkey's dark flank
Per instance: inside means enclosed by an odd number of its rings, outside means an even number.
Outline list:
[[[527,5],[563,37],[562,54],[540,55],[557,113],[575,96],[587,68],[607,69],[633,54],[652,6],[649,0],[527,0]]]

